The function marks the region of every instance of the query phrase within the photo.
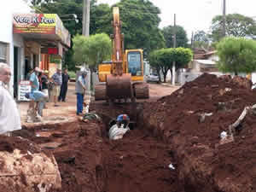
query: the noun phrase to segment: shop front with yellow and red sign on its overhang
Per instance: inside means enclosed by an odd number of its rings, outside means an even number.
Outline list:
[[[55,14],[14,14],[13,37],[20,42],[14,46],[14,96],[20,80],[25,80],[34,67],[48,70],[50,75],[61,67],[61,58],[70,47],[70,34]],[[22,49],[20,49],[22,48]],[[50,63],[51,58],[57,63]]]

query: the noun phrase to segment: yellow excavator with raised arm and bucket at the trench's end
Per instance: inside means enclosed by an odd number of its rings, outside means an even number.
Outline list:
[[[143,50],[124,49],[124,35],[121,34],[119,8],[113,8],[112,61],[98,67],[101,83],[95,86],[95,100],[115,102],[124,99],[148,99],[148,84],[143,81]]]

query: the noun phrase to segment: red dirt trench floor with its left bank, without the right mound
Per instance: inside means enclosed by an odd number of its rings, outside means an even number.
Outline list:
[[[62,189],[58,192],[182,192],[177,179],[173,148],[140,124],[143,104],[92,104],[102,121],[77,120],[57,125],[24,127],[20,136],[29,137],[52,152],[58,163]],[[108,139],[108,123],[119,113],[137,122],[118,141]],[[54,191],[57,192],[57,191]]]

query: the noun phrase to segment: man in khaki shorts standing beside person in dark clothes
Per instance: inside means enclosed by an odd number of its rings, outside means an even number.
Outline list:
[[[60,96],[60,91],[61,91],[61,84],[62,84],[62,76],[61,76],[61,69],[57,68],[56,73],[51,77],[54,87],[52,90],[52,96],[54,96],[54,102],[55,102],[55,107],[58,107],[57,105],[58,102],[58,96]]]

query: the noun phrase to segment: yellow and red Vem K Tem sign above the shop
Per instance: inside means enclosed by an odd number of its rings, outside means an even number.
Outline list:
[[[14,33],[55,34],[55,14],[15,14]]]

